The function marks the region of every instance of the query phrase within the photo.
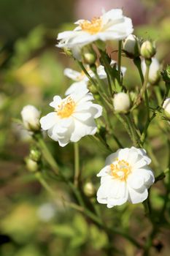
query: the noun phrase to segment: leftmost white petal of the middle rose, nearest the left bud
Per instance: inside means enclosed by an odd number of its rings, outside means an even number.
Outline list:
[[[42,129],[50,129],[58,122],[58,116],[55,112],[48,113],[39,120]]]

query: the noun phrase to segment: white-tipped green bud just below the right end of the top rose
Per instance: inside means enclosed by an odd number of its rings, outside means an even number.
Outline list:
[[[139,56],[139,39],[134,34],[130,34],[123,42],[123,50],[131,58]]]

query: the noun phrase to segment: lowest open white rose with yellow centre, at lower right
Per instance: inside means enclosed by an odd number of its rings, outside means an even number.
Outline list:
[[[147,199],[147,189],[155,178],[143,148],[123,148],[110,154],[106,166],[98,173],[101,186],[97,192],[98,203],[107,204],[108,208],[120,206],[129,201],[142,203]]]

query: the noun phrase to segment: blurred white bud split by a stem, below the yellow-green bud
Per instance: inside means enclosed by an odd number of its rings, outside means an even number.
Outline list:
[[[145,61],[144,59],[142,60],[142,64],[141,64],[141,67],[142,67],[142,73],[143,75],[145,75],[145,72],[146,72],[146,64],[145,64]],[[152,58],[152,63],[150,64],[150,72],[149,72],[149,83],[156,83],[160,77],[160,69],[161,69],[161,65],[158,61],[158,59],[156,58]]]

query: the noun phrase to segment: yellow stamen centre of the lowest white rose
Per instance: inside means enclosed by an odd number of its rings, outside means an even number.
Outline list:
[[[125,160],[116,159],[115,164],[110,165],[111,176],[118,178],[120,181],[126,181],[128,175],[131,173],[131,166]]]

